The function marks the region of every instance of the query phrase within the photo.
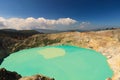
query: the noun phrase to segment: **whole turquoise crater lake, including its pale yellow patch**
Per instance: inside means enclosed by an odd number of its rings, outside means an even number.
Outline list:
[[[44,74],[55,80],[105,80],[113,72],[100,53],[75,46],[46,46],[21,50],[0,67],[22,76]]]

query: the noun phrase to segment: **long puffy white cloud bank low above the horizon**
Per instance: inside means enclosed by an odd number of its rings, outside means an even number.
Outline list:
[[[88,26],[89,22],[78,22],[71,18],[45,19],[45,18],[4,18],[0,17],[0,29],[52,29],[52,30],[71,30],[80,29]]]

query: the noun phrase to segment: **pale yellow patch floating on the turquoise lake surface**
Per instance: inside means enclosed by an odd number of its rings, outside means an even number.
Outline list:
[[[62,48],[45,48],[39,53],[46,59],[56,58],[65,55],[65,50]]]

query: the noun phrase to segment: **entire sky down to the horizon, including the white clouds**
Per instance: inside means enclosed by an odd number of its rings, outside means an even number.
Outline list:
[[[120,26],[120,0],[0,0],[0,28]]]

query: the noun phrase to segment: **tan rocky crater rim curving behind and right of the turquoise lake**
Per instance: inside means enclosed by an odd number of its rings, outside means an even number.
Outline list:
[[[62,32],[54,34],[33,34],[24,39],[0,37],[0,59],[9,54],[32,47],[47,45],[75,45],[94,49],[108,59],[114,71],[112,80],[120,80],[120,29]]]

